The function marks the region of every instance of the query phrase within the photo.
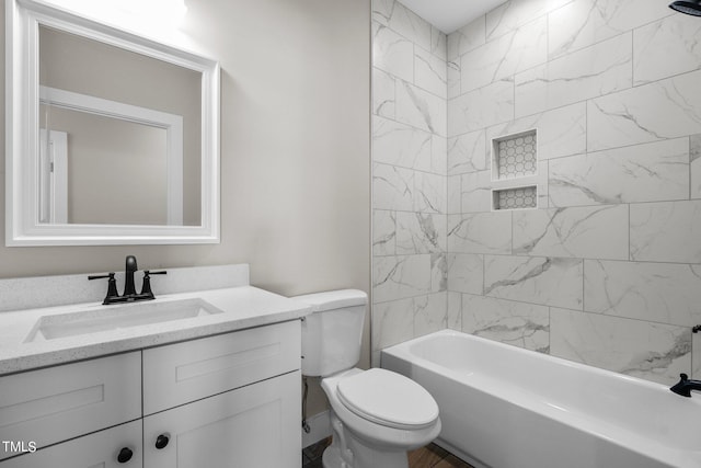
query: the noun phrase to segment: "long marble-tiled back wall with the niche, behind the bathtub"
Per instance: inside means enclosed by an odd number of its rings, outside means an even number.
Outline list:
[[[701,20],[667,3],[510,0],[448,35],[448,327],[701,378]],[[531,128],[539,207],[493,212],[492,139]]]

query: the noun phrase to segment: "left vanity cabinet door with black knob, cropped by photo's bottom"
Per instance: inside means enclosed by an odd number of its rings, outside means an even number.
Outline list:
[[[117,457],[125,448],[131,456],[120,463]],[[127,454],[123,453],[123,459]],[[139,420],[10,458],[0,468],[141,468],[142,463]]]

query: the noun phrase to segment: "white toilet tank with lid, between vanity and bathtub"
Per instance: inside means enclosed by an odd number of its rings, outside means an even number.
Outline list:
[[[354,367],[360,361],[368,296],[342,289],[292,299],[312,310],[302,321],[302,375],[325,377]]]

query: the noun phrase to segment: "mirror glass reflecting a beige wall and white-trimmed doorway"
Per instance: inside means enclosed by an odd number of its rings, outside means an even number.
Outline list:
[[[39,25],[42,224],[199,226],[202,73]]]

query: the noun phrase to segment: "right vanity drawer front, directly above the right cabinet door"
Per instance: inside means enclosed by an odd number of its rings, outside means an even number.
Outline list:
[[[143,351],[143,414],[300,368],[299,320]]]

